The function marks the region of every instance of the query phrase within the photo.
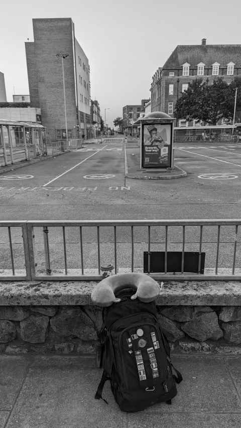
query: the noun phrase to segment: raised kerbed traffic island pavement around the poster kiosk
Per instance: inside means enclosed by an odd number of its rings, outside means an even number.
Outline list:
[[[140,141],[128,139],[125,144],[125,175],[128,178],[142,180],[170,180],[186,177],[186,171],[174,165],[171,169],[140,168]]]

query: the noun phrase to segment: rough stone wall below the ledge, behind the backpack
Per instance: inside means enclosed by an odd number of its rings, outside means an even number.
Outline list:
[[[171,349],[241,353],[241,306],[159,306]],[[100,308],[0,306],[0,353],[93,354]]]

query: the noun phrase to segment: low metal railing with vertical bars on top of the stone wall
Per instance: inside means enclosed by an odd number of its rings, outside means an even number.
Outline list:
[[[146,271],[156,279],[241,280],[240,225],[240,219],[0,221],[0,279],[94,280],[101,265],[113,264],[114,273]],[[173,272],[169,257],[177,252],[180,271]],[[196,273],[187,271],[187,253],[196,257]]]

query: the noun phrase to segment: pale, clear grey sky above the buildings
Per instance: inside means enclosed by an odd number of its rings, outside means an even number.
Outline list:
[[[25,45],[32,18],[72,18],[90,64],[91,98],[107,123],[149,98],[152,75],[177,45],[241,44],[239,0],[7,0],[1,5],[0,71],[8,101],[28,94]]]

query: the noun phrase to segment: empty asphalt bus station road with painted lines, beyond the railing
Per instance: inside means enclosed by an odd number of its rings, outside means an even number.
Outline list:
[[[176,180],[125,179],[124,144],[86,145],[84,149],[29,165],[0,175],[0,220],[98,220],[98,219],[226,219],[240,218],[241,144],[185,142],[175,146],[175,164],[188,176]],[[203,176],[203,174],[205,174]],[[15,179],[14,179],[15,178]],[[1,233],[1,232],[0,232]],[[51,250],[56,266],[63,262],[62,230],[50,231]],[[203,235],[208,265],[215,264],[216,228]],[[0,236],[2,251],[8,245],[8,233]],[[85,262],[97,260],[96,230],[86,228]],[[170,231],[169,250],[181,250],[182,230]],[[79,231],[66,230],[68,263],[79,260]],[[113,261],[113,230],[100,230],[104,261]],[[152,250],[163,249],[165,230],[152,229]],[[198,250],[199,229],[186,230],[186,248]],[[238,233],[238,243],[240,236]],[[13,232],[16,263],[23,266],[20,231]],[[123,267],[130,265],[131,231],[117,230],[118,257]],[[135,265],[142,265],[143,243],[147,230],[135,231]],[[231,263],[234,228],[221,231],[220,265]],[[42,231],[36,231],[37,252],[44,267]],[[146,248],[147,249],[147,248]],[[2,254],[2,251],[1,254]],[[1,255],[0,254],[0,255]],[[237,246],[237,263],[241,254]],[[5,251],[2,267],[9,265]],[[103,261],[103,259],[101,260]],[[94,263],[97,265],[97,261]],[[1,268],[1,262],[0,262]]]

